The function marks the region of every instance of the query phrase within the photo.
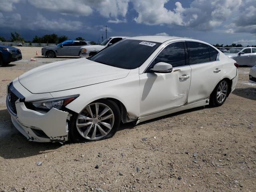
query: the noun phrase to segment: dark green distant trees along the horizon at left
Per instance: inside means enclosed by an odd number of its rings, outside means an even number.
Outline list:
[[[11,38],[10,40],[6,40],[4,37],[0,36],[0,41],[2,42],[14,42],[14,41],[23,41],[26,43],[52,43],[52,44],[59,44],[65,40],[68,40],[67,36],[58,36],[57,34],[53,33],[53,34],[46,34],[44,36],[34,36],[32,41],[26,41],[24,38],[22,38],[22,36],[17,33],[11,33]],[[80,40],[80,41],[84,41],[85,39],[82,37],[77,37],[76,40]],[[95,42],[92,42],[92,44],[96,44]]]

